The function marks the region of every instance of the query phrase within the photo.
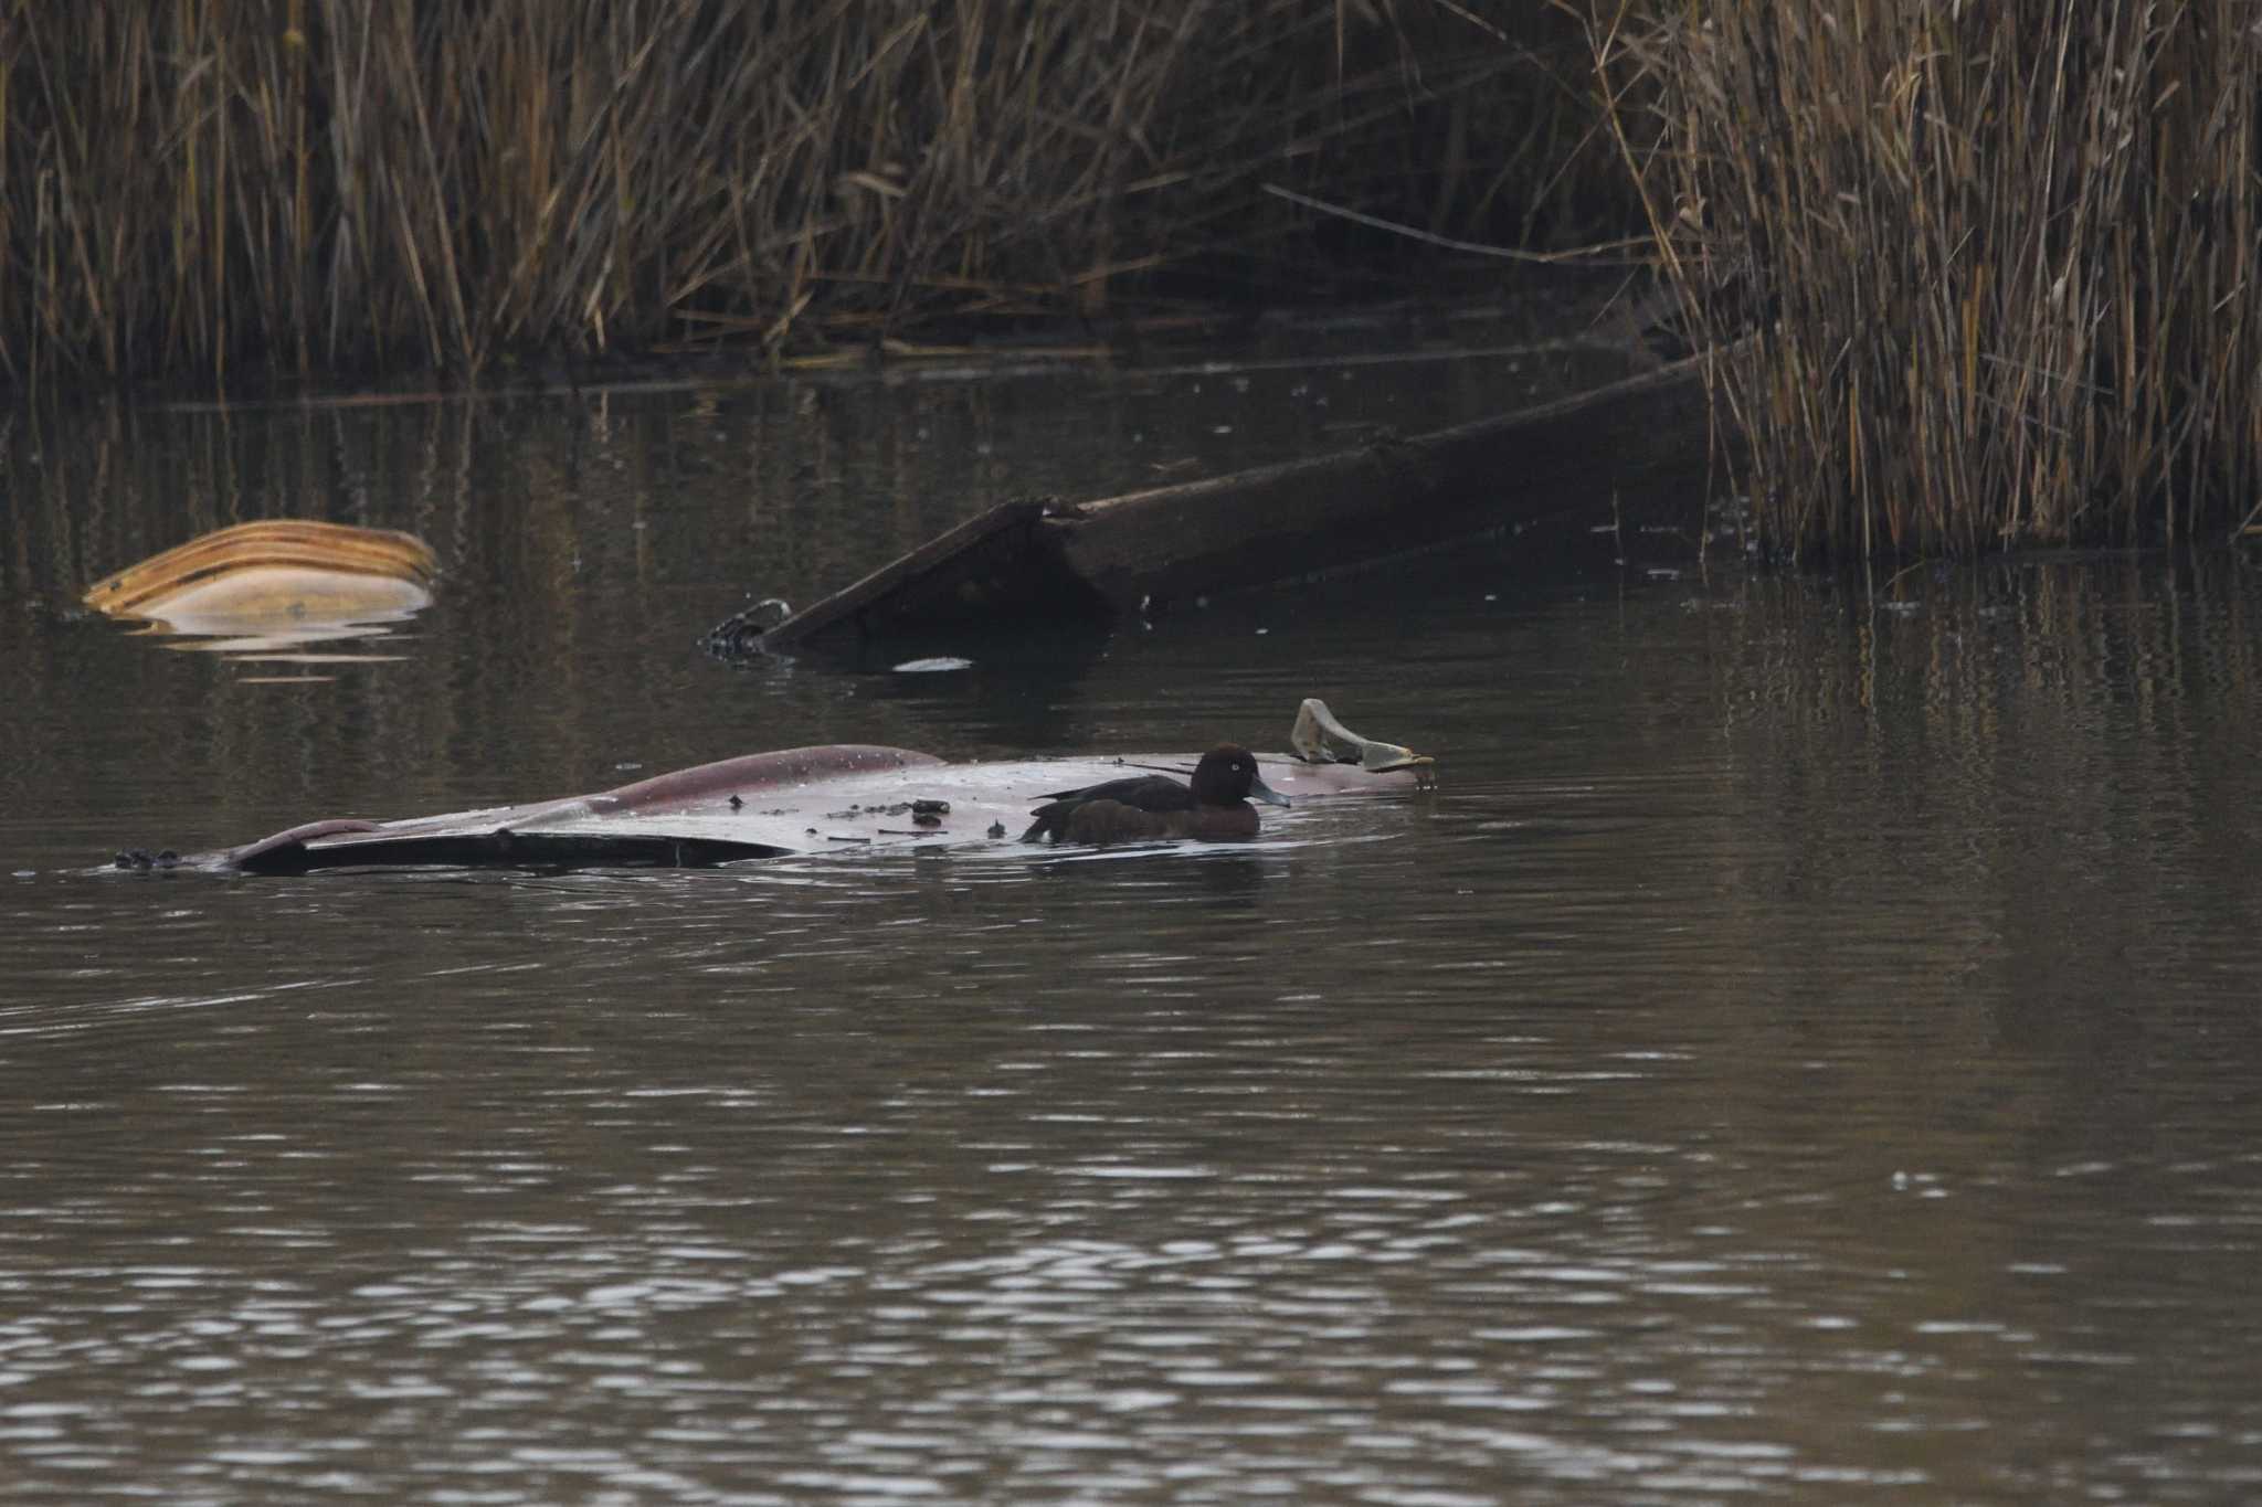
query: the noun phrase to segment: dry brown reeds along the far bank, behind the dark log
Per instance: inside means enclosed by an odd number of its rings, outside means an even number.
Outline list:
[[[1314,212],[1264,183],[1486,239],[1622,197],[1577,47],[1441,0],[0,0],[0,371],[792,352],[1165,273],[1278,296]]]

